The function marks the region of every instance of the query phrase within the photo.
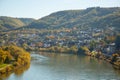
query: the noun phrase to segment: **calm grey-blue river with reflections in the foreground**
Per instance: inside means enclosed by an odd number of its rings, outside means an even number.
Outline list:
[[[120,80],[111,64],[73,54],[34,52],[29,69],[2,80]]]

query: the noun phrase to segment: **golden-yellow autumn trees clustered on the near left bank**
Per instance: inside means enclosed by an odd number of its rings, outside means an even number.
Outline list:
[[[30,54],[24,49],[15,46],[3,46],[0,47],[0,63],[11,63],[14,61],[14,65],[26,65],[30,63]]]

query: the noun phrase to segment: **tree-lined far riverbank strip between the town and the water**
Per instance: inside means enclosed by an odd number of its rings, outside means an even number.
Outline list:
[[[102,53],[101,51],[93,50],[90,51],[87,47],[83,46],[79,49],[77,47],[72,46],[68,47],[49,47],[49,48],[39,48],[38,51],[41,52],[54,52],[54,53],[70,53],[70,54],[77,54],[77,55],[87,55],[91,57],[95,57],[97,59],[105,60],[113,65],[115,69],[120,70],[120,56],[118,54],[107,55]]]

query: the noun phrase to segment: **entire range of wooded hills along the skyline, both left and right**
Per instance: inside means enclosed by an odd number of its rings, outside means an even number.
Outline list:
[[[119,27],[120,8],[92,7],[82,10],[65,10],[41,19],[0,17],[0,30],[16,28],[58,29],[72,27]]]

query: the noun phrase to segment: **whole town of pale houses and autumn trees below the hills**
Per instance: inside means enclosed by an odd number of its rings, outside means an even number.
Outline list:
[[[55,46],[64,48],[74,46],[76,49],[86,46],[91,51],[101,51],[104,54],[112,55],[115,53],[116,35],[119,35],[119,30],[113,27],[73,27],[72,29],[54,30],[22,29],[1,34],[0,45],[15,43],[26,50],[39,49],[41,51],[42,48]]]

